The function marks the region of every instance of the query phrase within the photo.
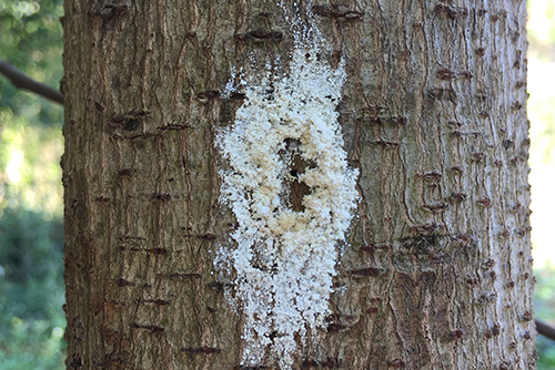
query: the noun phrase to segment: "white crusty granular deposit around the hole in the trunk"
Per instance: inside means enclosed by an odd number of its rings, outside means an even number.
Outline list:
[[[295,39],[287,75],[244,76],[244,103],[218,137],[231,168],[221,173],[220,201],[238,222],[236,247],[223,248],[219,260],[230,260],[236,273],[244,366],[259,366],[270,353],[290,369],[301,349],[295,335],[303,343],[317,341],[330,314],[336,243],[357,199],[357,172],[347,167],[335,112],[344,68],[317,61],[321,50]],[[294,155],[311,164],[293,174],[310,188],[302,210],[287,204]]]

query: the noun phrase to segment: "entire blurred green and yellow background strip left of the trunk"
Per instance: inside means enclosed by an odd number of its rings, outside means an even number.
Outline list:
[[[59,88],[61,0],[0,0],[0,59]],[[63,369],[63,111],[0,78],[0,368]]]

